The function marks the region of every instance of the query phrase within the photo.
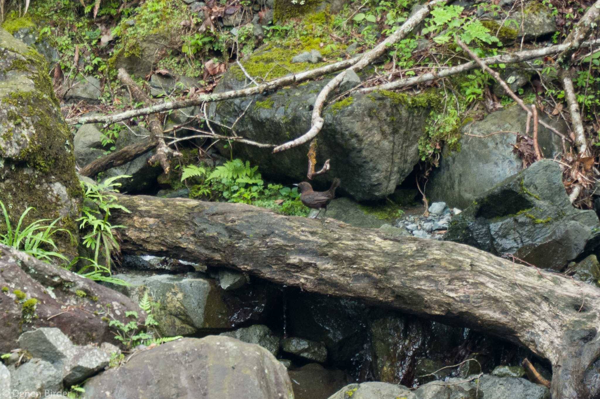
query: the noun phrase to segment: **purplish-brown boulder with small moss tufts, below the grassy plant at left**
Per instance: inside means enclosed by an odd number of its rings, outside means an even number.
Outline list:
[[[0,353],[40,327],[59,328],[77,344],[115,342],[110,318],[127,323],[125,312],[143,315],[124,295],[2,244],[0,271]]]

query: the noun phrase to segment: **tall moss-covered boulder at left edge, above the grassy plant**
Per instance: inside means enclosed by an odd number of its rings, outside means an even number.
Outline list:
[[[62,118],[43,56],[0,29],[0,201],[16,226],[26,207],[34,207],[23,226],[62,217],[56,226],[68,234],[53,239],[76,255],[81,188],[75,171],[71,134]],[[0,232],[5,231],[0,217]]]

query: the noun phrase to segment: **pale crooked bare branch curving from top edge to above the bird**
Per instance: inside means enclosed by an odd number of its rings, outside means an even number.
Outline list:
[[[317,99],[314,101],[312,123],[308,132],[306,132],[301,137],[296,138],[295,140],[288,141],[287,143],[275,147],[273,149],[273,152],[281,152],[293,147],[300,146],[304,143],[308,143],[308,141],[312,140],[317,134],[319,134],[320,130],[323,128],[323,117],[321,116],[321,112],[323,110],[323,105],[325,104],[327,96],[329,95],[329,93],[332,92],[332,90],[340,86],[340,83],[346,76],[347,71],[352,70],[357,72],[360,71],[362,68],[367,67],[367,65],[370,65],[388,49],[388,46],[396,43],[399,40],[402,40],[413,29],[415,29],[416,26],[419,25],[419,23],[421,23],[421,21],[429,15],[433,7],[435,7],[436,5],[443,5],[445,3],[446,0],[433,0],[430,3],[423,5],[423,7],[419,11],[417,11],[415,14],[413,14],[412,17],[410,17],[406,20],[406,22],[403,23],[400,29],[395,31],[386,40],[377,44],[377,46],[375,46],[373,50],[364,53],[362,56],[360,56],[359,61],[356,62],[355,65],[349,67],[348,69],[346,69],[346,71],[337,74],[332,80],[330,80],[329,83],[327,83],[325,87],[321,89],[321,92],[317,96]]]

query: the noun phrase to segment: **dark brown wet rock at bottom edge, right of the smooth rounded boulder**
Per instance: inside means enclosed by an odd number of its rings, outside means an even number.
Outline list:
[[[341,370],[327,370],[318,363],[310,363],[287,372],[292,380],[294,399],[326,398],[350,382]]]

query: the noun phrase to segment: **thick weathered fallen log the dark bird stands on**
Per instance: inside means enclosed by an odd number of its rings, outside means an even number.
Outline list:
[[[553,368],[554,399],[600,396],[600,289],[447,241],[388,237],[243,204],[119,195],[126,253],[228,267],[470,327]]]

